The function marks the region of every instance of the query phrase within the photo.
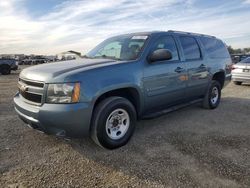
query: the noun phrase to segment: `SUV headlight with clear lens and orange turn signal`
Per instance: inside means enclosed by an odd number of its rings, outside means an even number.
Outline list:
[[[76,103],[80,99],[80,83],[49,84],[47,103]]]

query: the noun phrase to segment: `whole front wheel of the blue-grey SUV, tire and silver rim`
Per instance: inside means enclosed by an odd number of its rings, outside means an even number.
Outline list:
[[[133,104],[122,97],[109,97],[101,101],[94,110],[91,138],[101,147],[119,148],[129,141],[135,124],[136,111]]]

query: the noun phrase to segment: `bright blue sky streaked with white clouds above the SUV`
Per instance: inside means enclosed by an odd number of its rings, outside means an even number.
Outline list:
[[[107,37],[154,30],[250,47],[250,0],[0,0],[0,54],[85,53]]]

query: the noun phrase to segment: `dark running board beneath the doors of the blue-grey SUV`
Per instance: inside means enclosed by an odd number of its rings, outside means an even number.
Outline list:
[[[188,103],[184,103],[184,104],[179,104],[179,105],[176,105],[176,106],[172,106],[170,108],[166,108],[166,109],[158,111],[158,112],[149,113],[149,114],[143,116],[142,119],[156,118],[156,117],[162,116],[164,114],[167,114],[169,112],[173,112],[173,111],[176,111],[178,109],[185,108],[187,106],[190,106],[190,105],[193,105],[193,104],[196,104],[196,103],[200,103],[202,101],[203,101],[203,99],[196,99],[196,100],[193,100],[193,101],[188,102]]]

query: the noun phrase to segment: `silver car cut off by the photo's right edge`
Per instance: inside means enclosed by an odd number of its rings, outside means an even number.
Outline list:
[[[234,84],[250,83],[250,57],[233,65],[232,80]]]

